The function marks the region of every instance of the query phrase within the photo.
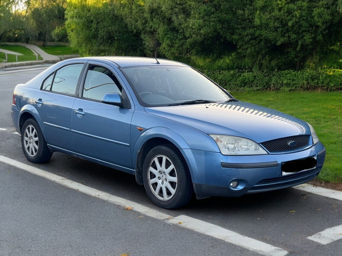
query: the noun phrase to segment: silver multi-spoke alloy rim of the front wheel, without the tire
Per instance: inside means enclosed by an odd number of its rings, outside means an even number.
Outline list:
[[[177,172],[167,156],[155,156],[150,161],[147,176],[150,189],[158,199],[166,201],[174,196],[177,189]]]

